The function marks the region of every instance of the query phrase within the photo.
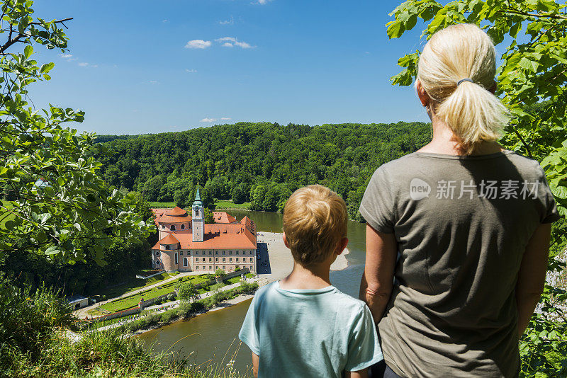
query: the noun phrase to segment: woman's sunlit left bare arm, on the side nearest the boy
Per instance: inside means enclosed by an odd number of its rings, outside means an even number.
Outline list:
[[[384,234],[366,224],[366,265],[360,282],[360,294],[378,323],[386,309],[393,287],[398,243],[394,234]]]

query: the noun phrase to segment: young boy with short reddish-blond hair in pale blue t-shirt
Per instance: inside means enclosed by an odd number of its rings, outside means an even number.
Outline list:
[[[254,295],[239,338],[254,377],[367,377],[383,359],[364,302],[339,292],[330,266],[347,246],[347,206],[330,189],[296,190],[283,209],[293,271]]]

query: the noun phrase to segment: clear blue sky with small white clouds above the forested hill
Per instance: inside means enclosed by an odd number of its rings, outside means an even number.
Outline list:
[[[34,84],[36,107],[86,112],[98,134],[145,134],[238,121],[321,125],[428,120],[396,62],[425,42],[388,40],[395,1],[37,0],[35,16],[73,17],[69,52]],[[419,26],[419,25],[418,25]]]

